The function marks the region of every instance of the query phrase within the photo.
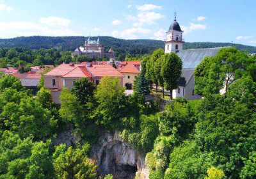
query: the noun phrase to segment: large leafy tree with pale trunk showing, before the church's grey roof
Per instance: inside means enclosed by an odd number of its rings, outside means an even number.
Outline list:
[[[252,62],[246,53],[237,51],[235,47],[221,49],[216,56],[205,58],[196,67],[196,93],[216,94],[222,89],[226,97],[229,86],[246,73],[248,65]]]

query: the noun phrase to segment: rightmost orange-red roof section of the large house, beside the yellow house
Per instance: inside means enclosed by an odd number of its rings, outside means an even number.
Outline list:
[[[124,77],[111,65],[93,65],[92,67],[87,67],[87,69],[92,73],[93,77]]]

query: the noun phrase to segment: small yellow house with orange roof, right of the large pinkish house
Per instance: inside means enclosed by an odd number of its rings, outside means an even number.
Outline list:
[[[118,68],[118,71],[124,75],[123,86],[126,89],[132,89],[136,77],[140,74],[140,70],[130,63]]]

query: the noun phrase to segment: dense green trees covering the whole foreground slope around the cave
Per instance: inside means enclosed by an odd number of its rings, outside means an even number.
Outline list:
[[[180,61],[158,49],[142,59],[132,95],[117,78],[103,77],[97,88],[82,78],[62,89],[60,105],[44,86],[33,97],[17,77],[0,75],[0,178],[99,178],[89,151],[104,130],[146,156],[150,179],[256,178],[256,55],[221,49],[195,69],[204,98],[177,98],[163,110],[159,96],[146,103],[150,82],[177,87]],[[70,127],[81,141],[55,146]]]

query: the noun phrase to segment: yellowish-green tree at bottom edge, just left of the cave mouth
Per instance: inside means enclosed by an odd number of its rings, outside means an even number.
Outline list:
[[[56,147],[53,159],[57,178],[96,179],[97,166],[88,159],[84,150],[73,149],[71,146],[66,150],[65,144],[61,144]]]

